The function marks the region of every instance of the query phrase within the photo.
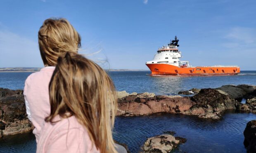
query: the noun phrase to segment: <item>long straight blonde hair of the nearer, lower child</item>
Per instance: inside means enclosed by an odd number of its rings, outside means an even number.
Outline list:
[[[102,153],[116,153],[112,129],[117,110],[114,83],[91,60],[76,53],[59,57],[49,86],[50,116],[46,122],[75,116]]]

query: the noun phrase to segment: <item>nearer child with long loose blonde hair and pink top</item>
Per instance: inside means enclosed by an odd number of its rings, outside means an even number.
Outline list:
[[[116,153],[112,128],[116,91],[108,74],[74,53],[58,59],[49,86],[50,116],[37,152]]]

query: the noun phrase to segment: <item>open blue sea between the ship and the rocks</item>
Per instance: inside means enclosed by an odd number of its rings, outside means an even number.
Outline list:
[[[218,88],[227,84],[256,85],[256,71],[242,71],[235,76],[150,76],[151,72],[109,72],[116,89],[128,93],[173,95],[191,88]]]

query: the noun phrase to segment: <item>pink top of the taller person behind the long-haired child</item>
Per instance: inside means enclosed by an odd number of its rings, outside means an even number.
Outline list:
[[[33,134],[36,142],[39,140],[40,130],[45,117],[50,115],[49,83],[55,67],[44,67],[39,72],[32,73],[25,81],[24,96],[28,119],[35,129]]]

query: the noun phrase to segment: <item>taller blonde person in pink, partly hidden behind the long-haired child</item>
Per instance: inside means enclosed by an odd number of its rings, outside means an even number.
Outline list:
[[[46,19],[38,32],[40,54],[45,65],[25,81],[24,97],[28,119],[38,142],[45,117],[50,114],[49,83],[57,59],[67,52],[77,53],[81,37],[66,19]]]

